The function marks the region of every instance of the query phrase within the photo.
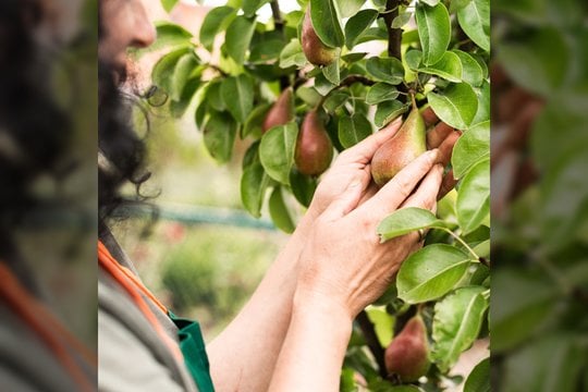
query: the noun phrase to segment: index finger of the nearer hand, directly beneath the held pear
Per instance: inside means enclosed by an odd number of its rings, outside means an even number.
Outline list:
[[[359,213],[366,210],[381,219],[395,211],[397,207],[413,193],[420,180],[439,160],[439,150],[432,149],[415,159],[390,180],[371,199],[357,209]],[[434,192],[437,195],[438,191]]]

